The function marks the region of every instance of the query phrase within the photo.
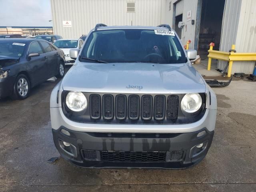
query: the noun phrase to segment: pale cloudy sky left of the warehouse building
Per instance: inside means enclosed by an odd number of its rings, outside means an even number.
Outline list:
[[[0,0],[0,26],[52,26],[50,0]]]

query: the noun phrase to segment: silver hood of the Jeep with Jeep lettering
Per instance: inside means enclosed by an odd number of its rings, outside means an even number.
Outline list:
[[[63,90],[102,93],[194,93],[206,85],[187,63],[84,63],[76,62],[62,81]]]

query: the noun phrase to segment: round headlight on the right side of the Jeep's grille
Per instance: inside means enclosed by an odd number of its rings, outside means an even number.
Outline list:
[[[198,93],[186,94],[181,100],[181,108],[185,112],[197,112],[202,106],[202,98]]]

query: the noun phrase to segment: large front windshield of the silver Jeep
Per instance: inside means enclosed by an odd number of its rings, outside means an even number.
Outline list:
[[[82,62],[184,63],[186,56],[177,36],[168,30],[97,30],[87,37]]]

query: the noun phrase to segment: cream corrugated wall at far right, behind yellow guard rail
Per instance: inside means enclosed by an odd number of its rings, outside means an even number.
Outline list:
[[[256,52],[256,0],[242,0],[238,30],[236,35],[237,52]],[[232,73],[252,74],[253,62],[234,62]]]

